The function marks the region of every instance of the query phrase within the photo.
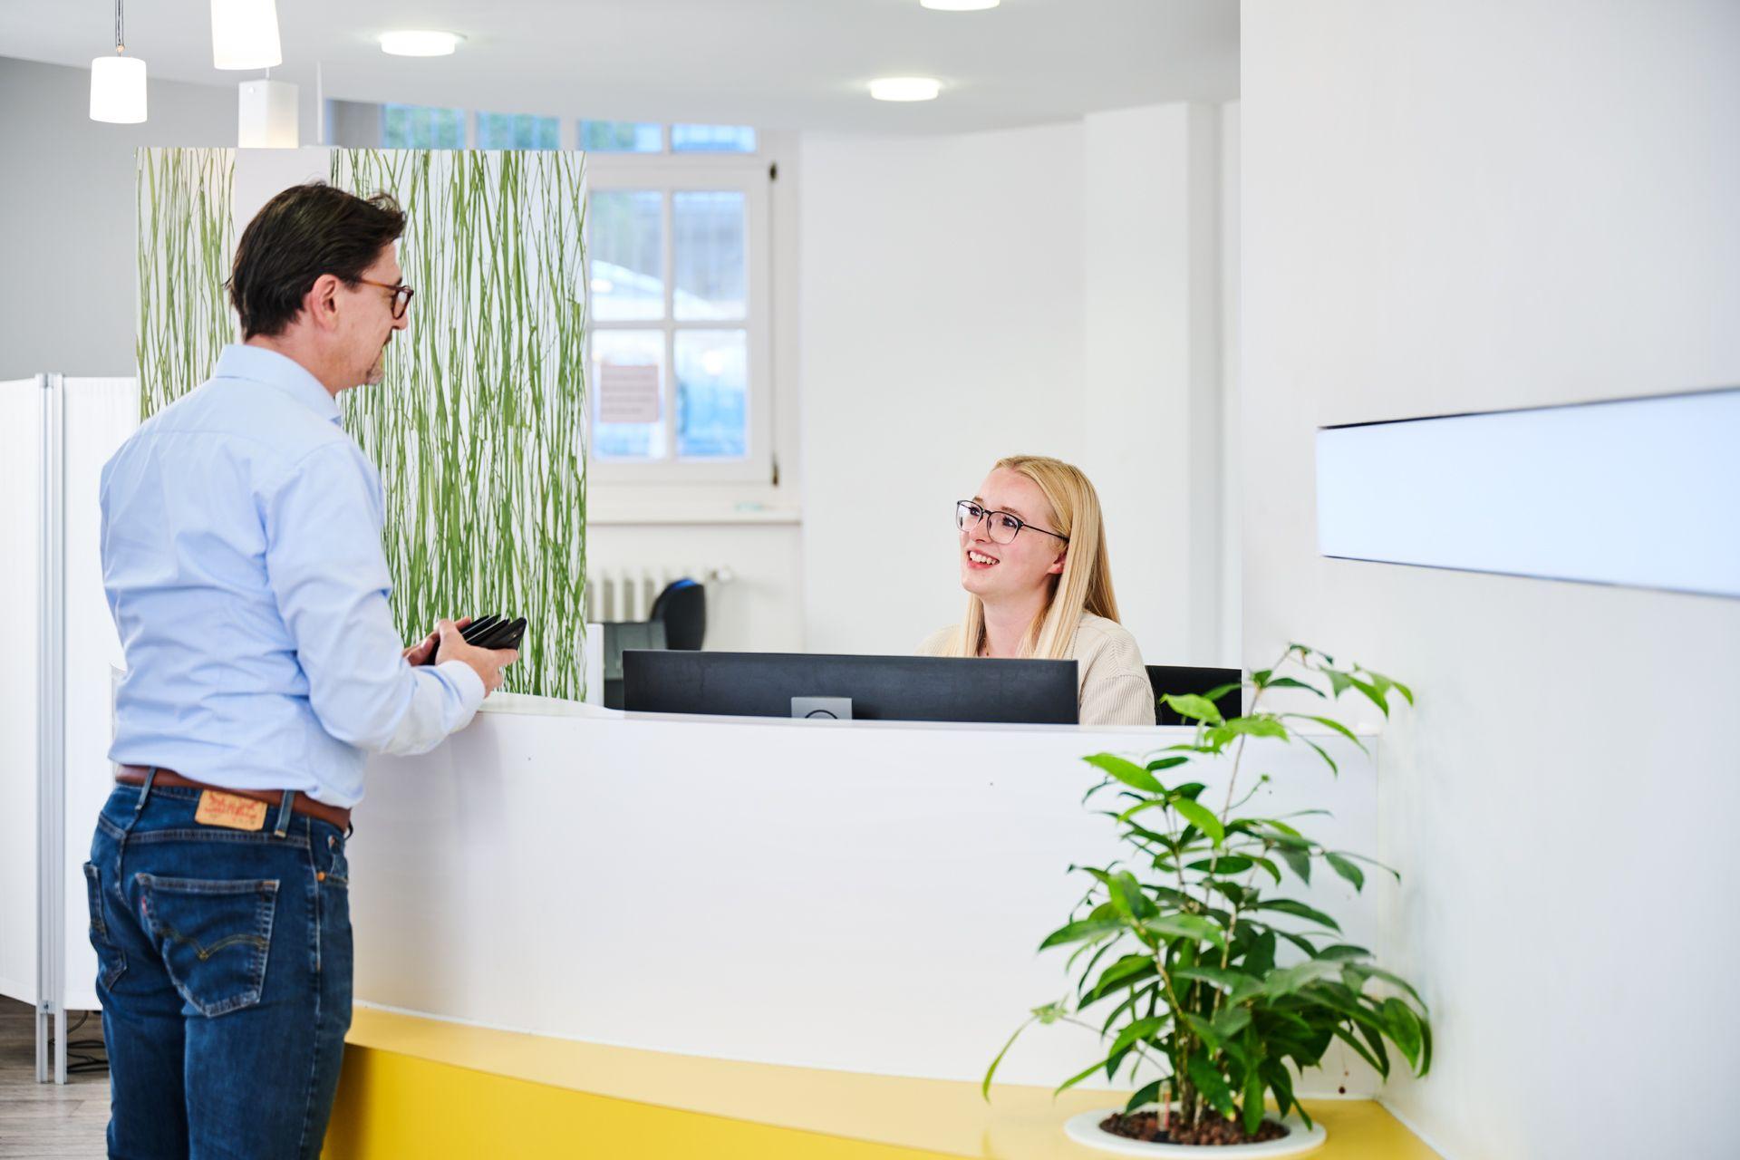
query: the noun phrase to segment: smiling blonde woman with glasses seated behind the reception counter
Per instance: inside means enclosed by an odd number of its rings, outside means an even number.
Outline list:
[[[1117,623],[1100,496],[1044,456],[999,459],[955,504],[966,621],[919,656],[1074,659],[1082,725],[1152,725],[1154,689]]]

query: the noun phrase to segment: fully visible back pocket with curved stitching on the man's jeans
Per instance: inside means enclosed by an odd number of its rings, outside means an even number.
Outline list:
[[[271,950],[277,878],[209,880],[134,875],[139,917],[171,981],[202,1016],[259,1002]]]

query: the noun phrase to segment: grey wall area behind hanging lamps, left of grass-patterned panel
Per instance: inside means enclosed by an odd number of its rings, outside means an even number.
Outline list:
[[[146,101],[143,125],[97,123],[89,70],[0,57],[0,377],[136,372],[132,151],[233,144],[237,117],[235,89],[153,80]]]

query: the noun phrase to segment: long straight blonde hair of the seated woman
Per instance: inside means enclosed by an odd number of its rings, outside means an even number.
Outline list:
[[[1067,661],[1074,656],[1075,630],[1082,612],[1117,619],[1112,595],[1112,560],[1105,548],[1105,520],[1093,483],[1061,459],[1046,456],[1009,456],[992,468],[1020,471],[1039,485],[1051,504],[1051,530],[1068,536],[1063,572],[1051,577],[1046,609],[1034,617],[1021,640],[1023,657]],[[950,656],[978,656],[985,647],[985,603],[967,595],[967,614],[960,623]]]

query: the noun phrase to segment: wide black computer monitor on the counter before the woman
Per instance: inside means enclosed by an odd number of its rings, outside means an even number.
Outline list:
[[[853,720],[1074,725],[1075,661],[623,654],[623,708],[632,713],[792,717],[792,697],[851,697]]]

